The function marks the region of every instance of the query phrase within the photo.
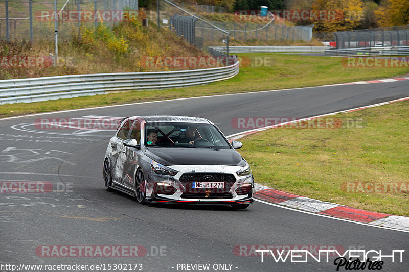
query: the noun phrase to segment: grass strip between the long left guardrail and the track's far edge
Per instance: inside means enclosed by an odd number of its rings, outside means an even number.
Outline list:
[[[132,102],[168,100],[181,97],[240,93],[320,86],[350,81],[379,79],[403,75],[407,68],[347,68],[341,58],[284,55],[275,53],[240,54],[240,73],[226,81],[189,88],[108,93],[36,103],[0,105],[0,117],[67,109],[107,106]],[[255,58],[270,61],[268,66],[251,66]],[[264,59],[265,58],[265,59]]]

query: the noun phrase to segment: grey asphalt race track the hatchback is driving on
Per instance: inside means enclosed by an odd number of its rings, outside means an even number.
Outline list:
[[[116,264],[116,271],[200,271],[203,267],[198,264],[210,264],[207,271],[336,271],[334,257],[328,262],[324,257],[321,262],[309,257],[308,262],[295,263],[289,259],[276,262],[272,256],[265,256],[262,262],[260,256],[255,256],[257,248],[251,247],[288,245],[286,249],[312,252],[318,250],[315,245],[323,245],[323,250],[381,250],[382,255],[404,250],[402,259],[397,253],[394,262],[384,258],[382,271],[407,271],[407,232],[260,202],[246,210],[230,206],[140,205],[130,196],[105,191],[102,163],[113,130],[47,130],[33,126],[37,118],[92,119],[158,113],[205,117],[230,135],[247,130],[232,127],[235,117],[308,117],[407,96],[409,85],[402,81],[190,98],[0,120],[2,184],[41,181],[59,190],[0,193],[0,270],[11,271],[4,266],[8,264],[79,264],[88,265],[91,271],[93,264],[105,265],[105,270],[108,264],[111,269]],[[98,246],[112,249],[119,245],[125,250],[117,255],[112,252],[114,257],[96,250]],[[88,252],[92,256],[78,257],[69,246],[77,246],[77,250],[93,246],[92,253]],[[137,252],[135,246],[139,246]],[[82,254],[87,255],[85,248]]]

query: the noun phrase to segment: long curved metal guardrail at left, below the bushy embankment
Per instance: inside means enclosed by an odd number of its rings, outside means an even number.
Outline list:
[[[0,80],[0,105],[104,94],[107,91],[186,87],[230,79],[238,72],[239,62],[236,61],[230,66],[209,69]]]

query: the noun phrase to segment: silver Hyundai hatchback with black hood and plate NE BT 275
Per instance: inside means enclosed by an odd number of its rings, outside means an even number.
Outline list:
[[[122,119],[106,150],[103,176],[141,203],[247,208],[253,175],[246,160],[209,120],[185,116]]]

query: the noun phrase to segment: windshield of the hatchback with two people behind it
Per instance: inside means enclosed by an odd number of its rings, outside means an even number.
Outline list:
[[[157,134],[156,142],[154,142],[155,137],[152,137],[152,135],[156,136],[155,133]],[[146,123],[145,135],[145,144],[148,147],[231,148],[224,136],[210,124]]]

